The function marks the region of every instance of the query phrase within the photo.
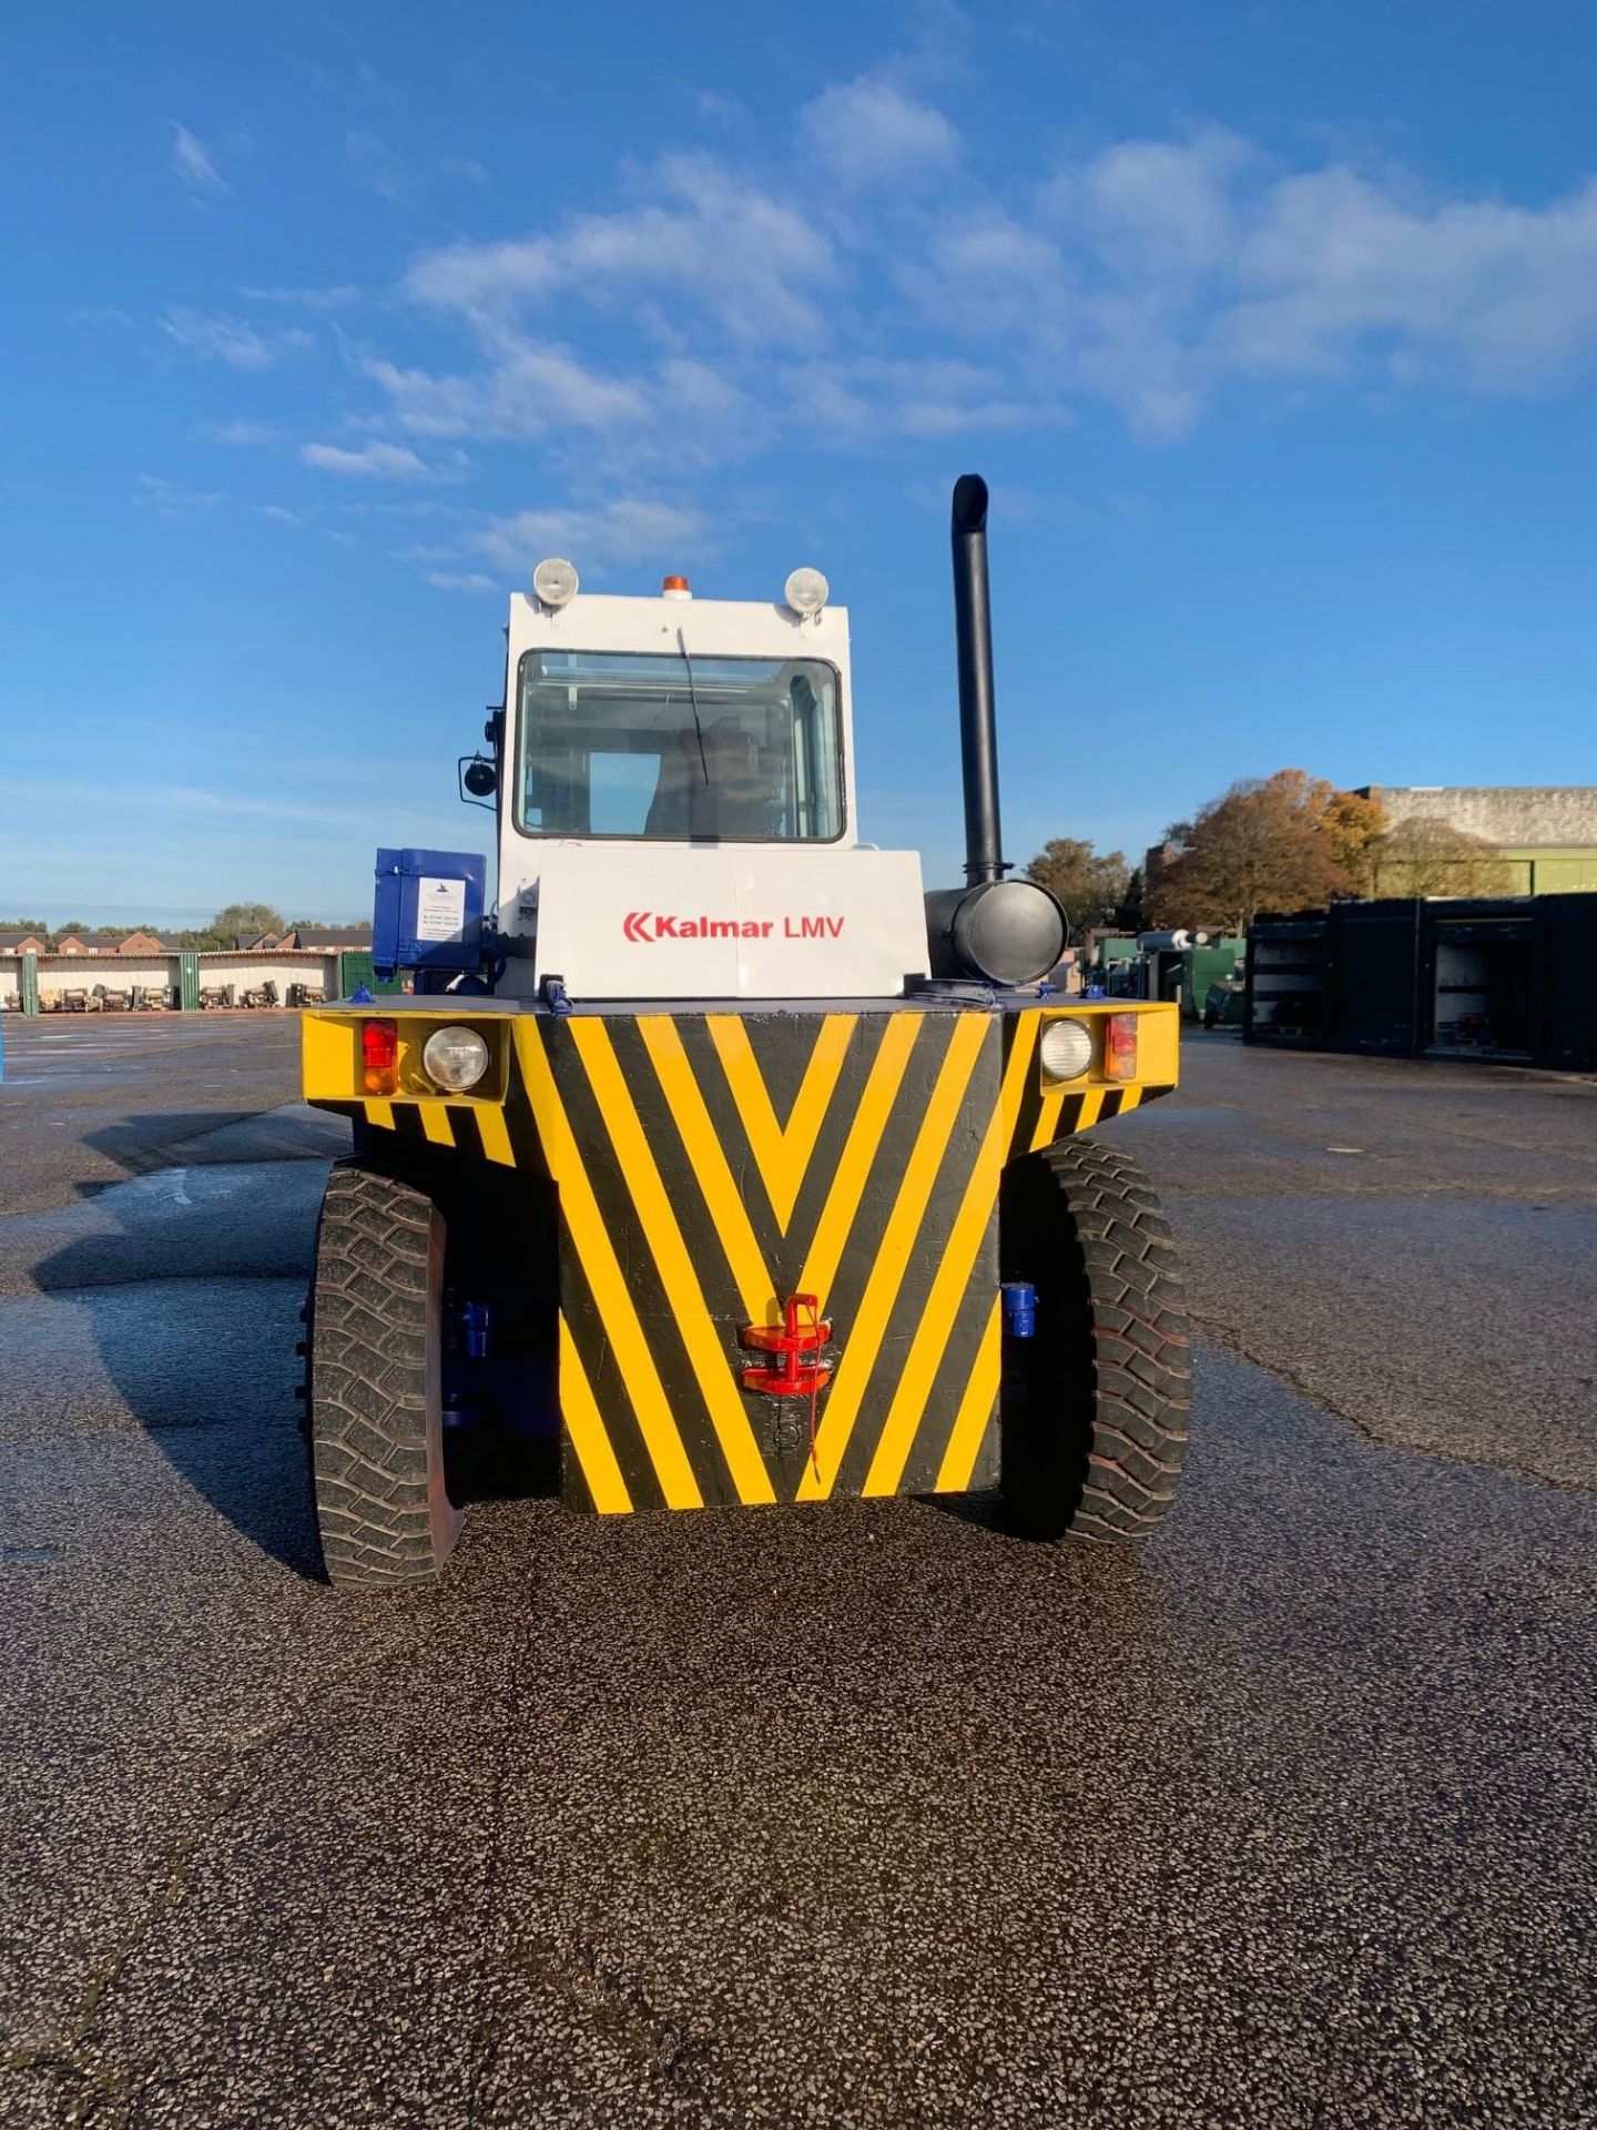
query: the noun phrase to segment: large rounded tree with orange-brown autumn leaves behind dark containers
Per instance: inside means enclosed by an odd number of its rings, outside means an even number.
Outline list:
[[[1152,924],[1246,933],[1261,910],[1320,907],[1359,886],[1348,863],[1361,822],[1335,784],[1303,769],[1244,777],[1169,831],[1148,884]]]

